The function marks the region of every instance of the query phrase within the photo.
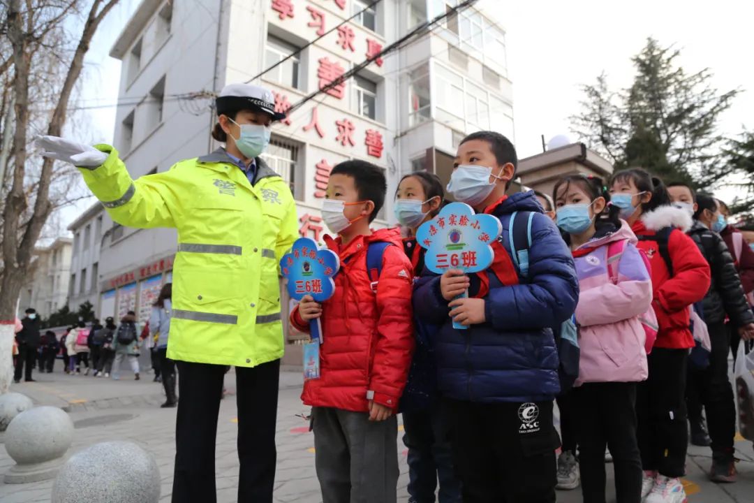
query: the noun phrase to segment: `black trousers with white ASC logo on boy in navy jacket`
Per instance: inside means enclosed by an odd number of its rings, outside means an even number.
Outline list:
[[[552,401],[446,405],[464,503],[554,503]]]

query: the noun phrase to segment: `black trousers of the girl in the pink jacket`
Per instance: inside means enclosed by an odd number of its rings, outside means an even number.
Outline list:
[[[573,390],[584,503],[605,503],[605,446],[615,466],[618,503],[642,499],[636,440],[636,383],[590,382]]]

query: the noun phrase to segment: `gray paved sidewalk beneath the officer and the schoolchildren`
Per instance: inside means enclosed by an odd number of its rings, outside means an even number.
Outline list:
[[[162,480],[161,502],[170,501],[175,455],[176,409],[160,409],[164,400],[160,384],[144,373],[142,380],[133,381],[133,374],[123,373],[120,381],[91,376],[66,376],[63,373],[36,374],[38,382],[13,385],[11,391],[27,394],[35,403],[64,407],[74,421],[75,435],[69,455],[93,443],[108,440],[132,440],[155,455]],[[234,393],[235,379],[231,370],[225,379],[228,391]],[[314,439],[308,423],[297,414],[308,413],[301,394],[302,377],[298,372],[280,375],[280,401],[277,411],[277,476],[275,501],[319,503],[319,484],[314,474]],[[402,429],[402,428],[401,428]],[[238,456],[236,452],[236,410],[234,395],[220,406],[217,432],[216,473],[220,503],[237,501]],[[399,432],[400,452],[399,501],[408,501],[406,484],[408,468],[406,449]],[[709,503],[736,501],[754,503],[754,451],[752,443],[739,440],[737,468],[739,482],[717,485],[706,478],[711,462],[710,449],[690,447],[685,482],[689,501]],[[0,474],[13,464],[0,445]],[[608,472],[608,501],[615,501],[612,465]],[[52,480],[23,485],[0,482],[2,503],[31,503],[50,501]],[[558,501],[581,501],[581,491],[558,492]]]

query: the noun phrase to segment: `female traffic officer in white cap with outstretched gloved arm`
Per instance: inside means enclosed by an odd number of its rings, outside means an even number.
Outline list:
[[[226,86],[216,140],[204,157],[132,180],[118,151],[44,136],[44,155],[75,164],[115,222],[175,227],[173,319],[167,356],[179,370],[173,503],[216,501],[215,438],[226,366],[236,367],[238,501],[272,501],[283,331],[277,264],[297,235],[286,182],[259,154],[270,139],[269,90]]]

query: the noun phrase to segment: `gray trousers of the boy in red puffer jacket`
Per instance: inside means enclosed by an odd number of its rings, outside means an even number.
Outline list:
[[[398,422],[369,414],[314,407],[315,465],[323,503],[395,503]]]

